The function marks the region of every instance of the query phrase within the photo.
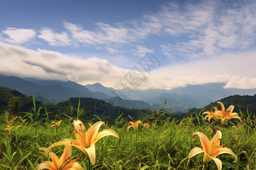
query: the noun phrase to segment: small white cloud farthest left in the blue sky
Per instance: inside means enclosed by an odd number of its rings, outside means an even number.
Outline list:
[[[3,41],[10,42],[11,44],[23,44],[24,42],[31,41],[36,36],[34,29],[7,27],[2,32],[9,36],[2,38]]]

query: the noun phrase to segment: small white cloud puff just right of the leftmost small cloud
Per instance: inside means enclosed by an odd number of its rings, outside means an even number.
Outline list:
[[[50,28],[42,28],[40,35],[38,36],[40,39],[47,41],[49,45],[52,46],[75,46],[75,43],[72,43],[69,40],[69,36],[67,32],[56,33],[53,32]]]

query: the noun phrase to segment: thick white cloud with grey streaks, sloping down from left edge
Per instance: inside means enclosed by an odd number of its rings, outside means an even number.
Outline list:
[[[81,84],[102,83],[113,87],[129,70],[106,59],[82,59],[49,50],[30,50],[0,42],[0,74],[22,78],[72,80]]]

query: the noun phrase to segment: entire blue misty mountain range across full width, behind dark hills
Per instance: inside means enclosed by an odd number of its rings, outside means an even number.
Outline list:
[[[224,88],[225,83],[189,84],[171,90],[148,89],[130,91],[115,90],[100,83],[82,86],[76,82],[56,80],[39,80],[0,75],[0,86],[9,87],[27,96],[34,95],[36,100],[44,103],[59,103],[70,97],[92,97],[108,101],[113,105],[135,109],[161,109],[164,101],[171,106],[171,112],[186,112],[189,108],[203,108],[213,101],[231,95],[254,95],[256,88]],[[123,95],[125,94],[126,95]]]

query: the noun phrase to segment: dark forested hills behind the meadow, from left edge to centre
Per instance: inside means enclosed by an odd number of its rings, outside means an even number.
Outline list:
[[[0,114],[5,111],[13,115],[20,115],[20,112],[31,112],[33,108],[32,97],[10,88],[0,86]],[[79,107],[80,100],[80,107]],[[72,112],[71,112],[72,106]],[[103,121],[114,121],[120,114],[122,117],[131,117],[135,119],[144,118],[151,115],[152,112],[146,109],[127,109],[106,103],[104,100],[93,99],[92,97],[71,97],[69,100],[52,104],[36,101],[36,108],[41,107],[41,115],[46,111],[49,113],[50,120],[61,120],[67,117],[77,117],[77,108],[80,108],[79,118],[92,119],[99,117]],[[46,110],[45,110],[46,109]]]

